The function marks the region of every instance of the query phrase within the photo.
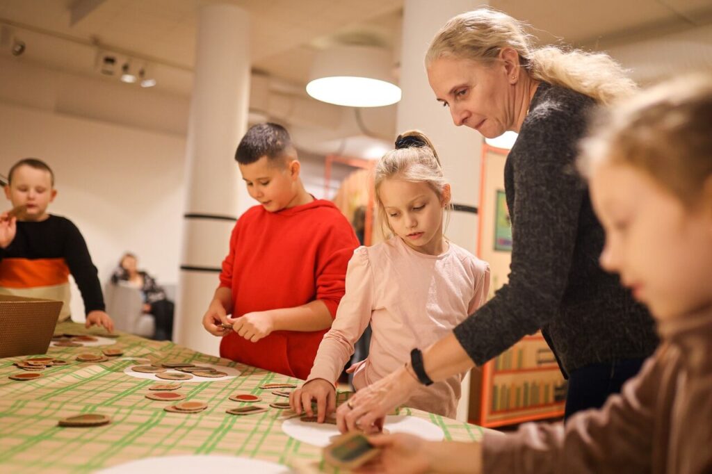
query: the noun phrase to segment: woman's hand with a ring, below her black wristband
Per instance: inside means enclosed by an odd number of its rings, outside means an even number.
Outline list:
[[[347,404],[336,410],[339,431],[381,431],[386,414],[406,401],[418,384],[415,376],[403,367],[375,384],[360,389]]]

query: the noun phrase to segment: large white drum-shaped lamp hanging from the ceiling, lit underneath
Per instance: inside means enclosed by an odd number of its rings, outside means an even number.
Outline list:
[[[347,107],[382,107],[401,100],[390,77],[389,51],[373,46],[337,46],[314,58],[307,93]]]

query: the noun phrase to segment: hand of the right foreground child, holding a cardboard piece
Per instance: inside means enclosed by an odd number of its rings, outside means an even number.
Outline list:
[[[357,470],[359,473],[425,473],[437,468],[432,443],[418,436],[395,433],[369,436],[368,441],[381,448],[381,453]]]

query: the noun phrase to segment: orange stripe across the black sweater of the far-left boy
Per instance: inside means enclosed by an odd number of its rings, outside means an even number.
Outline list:
[[[69,267],[64,258],[4,258],[0,260],[0,286],[35,288],[61,285],[69,281]]]

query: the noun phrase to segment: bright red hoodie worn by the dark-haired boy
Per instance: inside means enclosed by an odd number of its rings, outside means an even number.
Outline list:
[[[330,201],[316,199],[278,212],[248,209],[235,224],[220,273],[220,286],[232,290],[233,317],[313,300],[323,301],[335,317],[346,267],[358,245]],[[275,331],[258,342],[231,332],[222,339],[220,355],[306,379],[327,331]]]

